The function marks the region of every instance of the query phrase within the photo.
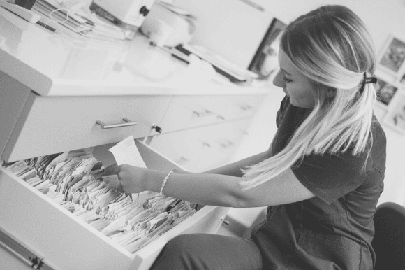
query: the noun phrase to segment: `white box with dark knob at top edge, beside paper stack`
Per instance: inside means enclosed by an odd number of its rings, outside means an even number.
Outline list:
[[[153,3],[154,0],[93,0],[90,9],[114,24],[137,31]]]

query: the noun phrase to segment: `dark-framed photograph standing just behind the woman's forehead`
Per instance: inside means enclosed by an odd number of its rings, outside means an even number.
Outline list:
[[[279,38],[287,24],[273,18],[263,40],[260,42],[248,69],[258,74],[258,80],[268,80],[279,69]]]

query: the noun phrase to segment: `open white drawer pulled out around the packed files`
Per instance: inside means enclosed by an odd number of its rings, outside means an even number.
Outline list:
[[[150,169],[179,167],[148,145],[135,142]],[[3,232],[34,250],[52,269],[68,270],[148,269],[169,239],[184,233],[215,233],[228,211],[228,208],[205,206],[132,254],[2,168],[0,204]]]

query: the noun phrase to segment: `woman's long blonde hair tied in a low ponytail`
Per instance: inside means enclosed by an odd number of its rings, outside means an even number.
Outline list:
[[[376,91],[364,85],[364,72],[374,74],[376,60],[360,17],[345,6],[321,6],[291,22],[280,46],[317,86],[315,106],[281,152],[244,169],[246,188],[279,176],[305,155],[358,155],[372,143]]]

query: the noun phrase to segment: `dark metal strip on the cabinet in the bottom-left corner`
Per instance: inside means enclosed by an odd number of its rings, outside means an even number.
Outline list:
[[[54,270],[43,262],[43,257],[18,241],[13,236],[5,232],[0,227],[0,247],[8,250],[9,253],[26,262],[31,268],[38,270]]]

